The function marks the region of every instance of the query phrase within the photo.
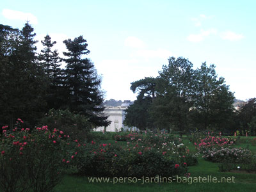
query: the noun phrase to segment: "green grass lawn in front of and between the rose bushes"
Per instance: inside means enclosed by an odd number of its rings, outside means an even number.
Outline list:
[[[188,146],[189,150],[195,150],[195,147],[192,143],[189,143],[189,140],[184,138],[184,143]],[[102,143],[115,143],[113,140],[105,140]],[[126,145],[127,142],[118,141],[119,145]],[[254,154],[256,154],[256,146],[251,145],[250,143],[239,143],[236,144],[236,147],[248,147]],[[66,175],[61,184],[56,187],[57,192],[83,192],[83,191],[140,191],[140,192],[150,192],[150,191],[159,191],[159,192],[172,192],[172,191],[255,191],[256,189],[256,174],[250,173],[230,173],[230,172],[220,172],[218,170],[218,163],[212,163],[205,161],[201,157],[198,159],[198,165],[189,167],[189,172],[191,177],[207,177],[209,175],[212,177],[217,177],[218,180],[221,180],[221,177],[232,178],[234,177],[234,183],[227,182],[194,182],[192,184],[187,183],[150,183],[142,184],[141,182],[137,183],[116,183],[113,182],[102,182],[102,183],[92,183],[88,181],[88,177],[78,177],[74,175]]]

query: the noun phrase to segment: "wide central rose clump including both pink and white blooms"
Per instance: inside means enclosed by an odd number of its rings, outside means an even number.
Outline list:
[[[80,145],[73,163],[82,175],[108,177],[172,177],[186,173],[187,166],[197,163],[195,153],[178,138],[168,134],[126,134],[126,146],[117,143]],[[73,147],[74,148],[74,147]],[[175,164],[180,166],[175,168]]]

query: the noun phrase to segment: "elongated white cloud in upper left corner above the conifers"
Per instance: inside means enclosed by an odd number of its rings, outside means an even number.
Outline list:
[[[10,20],[22,20],[23,22],[29,20],[31,24],[38,24],[38,20],[33,15],[32,13],[24,13],[24,12],[19,12],[19,11],[13,11],[13,10],[8,10],[4,9],[2,12],[3,16],[6,19]]]

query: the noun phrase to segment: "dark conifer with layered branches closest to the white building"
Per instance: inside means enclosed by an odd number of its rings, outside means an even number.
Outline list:
[[[95,126],[107,126],[107,116],[102,114],[104,107],[103,93],[100,90],[101,79],[97,75],[92,61],[83,58],[89,54],[88,44],[83,36],[63,41],[68,52],[63,52],[67,59],[65,86],[68,90],[67,104],[72,112],[86,116]]]

